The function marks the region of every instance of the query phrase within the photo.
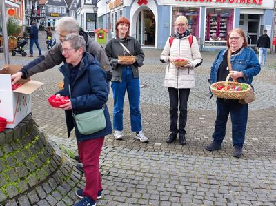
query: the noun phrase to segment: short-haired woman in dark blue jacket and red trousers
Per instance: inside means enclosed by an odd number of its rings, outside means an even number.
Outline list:
[[[83,163],[86,178],[84,189],[76,191],[81,198],[75,206],[96,205],[101,197],[101,174],[99,173],[99,156],[103,147],[104,136],[111,134],[112,127],[108,107],[108,83],[106,73],[100,67],[95,56],[86,52],[86,41],[79,34],[68,34],[61,43],[62,55],[66,63],[59,68],[64,76],[63,90],[56,96],[70,96],[70,100],[60,107],[66,112],[68,136],[75,127],[79,160]],[[106,128],[92,134],[79,132],[74,114],[81,114],[104,107]]]

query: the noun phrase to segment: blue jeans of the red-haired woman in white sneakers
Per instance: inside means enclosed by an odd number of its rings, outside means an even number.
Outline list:
[[[124,98],[128,92],[128,101],[130,104],[130,123],[132,132],[140,132],[141,112],[140,112],[140,83],[139,78],[133,78],[130,66],[125,66],[121,75],[121,82],[113,81],[111,83],[114,99],[113,109],[113,128],[123,131],[123,112]]]

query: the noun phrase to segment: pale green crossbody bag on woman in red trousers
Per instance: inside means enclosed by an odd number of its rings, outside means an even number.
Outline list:
[[[71,89],[69,85],[69,95],[71,97]],[[99,110],[83,112],[75,115],[72,110],[72,116],[75,119],[77,130],[79,133],[88,135],[99,132],[106,128],[106,117],[104,116],[104,105]]]

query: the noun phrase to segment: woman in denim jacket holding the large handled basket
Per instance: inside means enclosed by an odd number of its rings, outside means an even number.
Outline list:
[[[230,50],[230,62],[233,67],[232,79],[240,83],[251,84],[253,76],[259,74],[261,68],[255,52],[247,47],[244,32],[239,28],[231,30],[227,37],[227,46],[221,50],[215,59],[211,71],[209,83],[225,81],[229,74],[227,64],[227,52]],[[217,98],[217,119],[215,121],[215,132],[213,142],[205,147],[208,151],[220,150],[221,143],[226,135],[226,124],[230,113],[232,122],[232,144],[235,147],[233,156],[242,156],[242,148],[246,134],[248,119],[248,104],[238,103],[238,100]]]

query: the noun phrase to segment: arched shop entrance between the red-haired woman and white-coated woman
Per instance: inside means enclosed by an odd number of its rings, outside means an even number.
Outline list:
[[[150,9],[139,12],[136,31],[136,38],[141,45],[155,46],[155,15]]]

